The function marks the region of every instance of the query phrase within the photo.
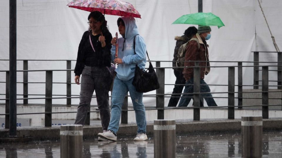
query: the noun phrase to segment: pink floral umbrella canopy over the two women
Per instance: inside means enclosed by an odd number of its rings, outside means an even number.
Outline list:
[[[141,18],[132,4],[120,0],[73,0],[67,6],[90,12],[100,11],[108,15]]]

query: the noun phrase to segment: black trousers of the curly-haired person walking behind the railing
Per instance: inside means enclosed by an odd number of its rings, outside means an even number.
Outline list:
[[[182,71],[177,71],[177,70],[173,70],[173,71],[174,71],[174,75],[176,77],[175,84],[183,84],[183,85],[174,85],[172,94],[180,94],[180,93],[182,93],[182,90],[183,90],[184,84],[186,83],[186,80],[185,80],[185,78],[182,74]],[[180,96],[181,95],[171,95],[169,102],[168,102],[168,107],[176,107],[176,105],[177,105],[177,103],[180,99]],[[189,99],[189,102],[190,102],[190,100],[191,99]],[[189,102],[186,102],[186,104],[188,105]],[[200,106],[201,107],[204,106],[204,99],[203,98],[200,99]]]

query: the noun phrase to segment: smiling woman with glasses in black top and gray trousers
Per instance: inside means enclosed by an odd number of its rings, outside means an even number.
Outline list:
[[[88,24],[89,29],[84,32],[78,47],[74,69],[76,84],[79,85],[82,75],[75,124],[84,125],[95,90],[102,127],[107,130],[110,122],[109,90],[112,76],[109,67],[112,35],[105,25],[105,17],[98,11],[89,14]]]

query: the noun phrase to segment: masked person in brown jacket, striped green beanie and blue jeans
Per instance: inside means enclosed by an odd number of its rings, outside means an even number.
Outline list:
[[[209,52],[208,45],[206,40],[209,40],[211,37],[211,28],[209,26],[199,25],[198,33],[192,37],[188,42],[185,53],[185,61],[209,61]],[[200,66],[209,66],[209,62],[200,62]],[[184,62],[184,66],[194,66],[194,62]],[[183,93],[193,93],[194,84],[193,80],[193,68],[184,68],[183,76],[186,80],[186,85]],[[207,75],[210,71],[209,67],[200,68],[200,92],[211,92],[209,86],[204,81],[204,75]],[[192,95],[184,94],[180,99],[178,107],[187,107],[187,102],[190,102]],[[217,106],[212,94],[201,94],[201,97],[204,97],[208,106]],[[203,105],[201,105],[203,106]]]

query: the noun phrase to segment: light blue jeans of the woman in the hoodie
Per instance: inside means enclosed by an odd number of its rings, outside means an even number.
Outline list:
[[[108,130],[111,130],[115,134],[117,133],[120,122],[122,103],[128,91],[135,111],[136,124],[138,127],[137,133],[146,133],[146,114],[142,102],[143,93],[136,92],[135,87],[132,85],[132,80],[133,78],[128,81],[120,80],[117,76],[114,80],[111,119]]]

